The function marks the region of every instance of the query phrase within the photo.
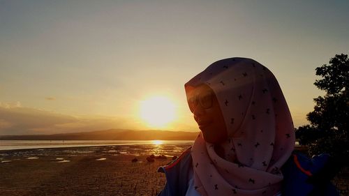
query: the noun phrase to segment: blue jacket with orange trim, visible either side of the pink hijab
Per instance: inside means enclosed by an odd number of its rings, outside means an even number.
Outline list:
[[[324,179],[322,183],[310,183],[309,176],[312,176],[324,167],[329,156],[322,154],[312,159],[300,154],[292,154],[288,161],[281,168],[283,173],[283,185],[281,195],[283,196],[305,196],[324,195],[336,196],[339,193],[330,183]],[[184,151],[176,160],[168,165],[158,168],[158,172],[165,173],[166,185],[158,196],[184,196],[188,189],[189,170],[192,167],[191,148]]]

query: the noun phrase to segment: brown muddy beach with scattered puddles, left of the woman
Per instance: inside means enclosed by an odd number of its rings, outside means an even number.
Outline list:
[[[161,165],[190,144],[0,151],[0,195],[157,195]],[[165,155],[149,163],[151,154]],[[137,158],[137,162],[132,162]]]

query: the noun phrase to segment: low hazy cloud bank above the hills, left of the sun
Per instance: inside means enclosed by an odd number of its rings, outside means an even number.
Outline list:
[[[74,133],[110,128],[135,128],[133,121],[111,116],[72,116],[0,103],[0,135]]]

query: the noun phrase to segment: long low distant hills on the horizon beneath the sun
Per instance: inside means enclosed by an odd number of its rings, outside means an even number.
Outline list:
[[[0,135],[0,140],[195,140],[198,132],[166,130],[96,130],[52,135]]]

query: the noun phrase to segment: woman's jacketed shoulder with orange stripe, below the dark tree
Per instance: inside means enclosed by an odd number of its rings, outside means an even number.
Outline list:
[[[293,153],[283,165],[282,195],[339,195],[330,182],[331,179],[312,181],[313,176],[322,172],[329,163],[329,155],[321,154],[308,158],[300,153]]]

